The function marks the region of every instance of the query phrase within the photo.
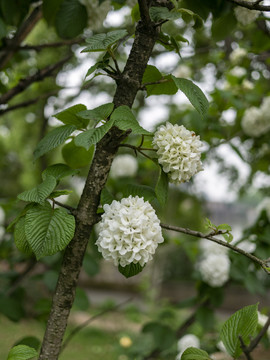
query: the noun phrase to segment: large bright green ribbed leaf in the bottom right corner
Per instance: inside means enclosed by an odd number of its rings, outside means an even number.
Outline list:
[[[233,358],[238,358],[242,353],[239,336],[245,345],[248,345],[256,333],[257,326],[258,304],[243,307],[223,324],[220,337]]]

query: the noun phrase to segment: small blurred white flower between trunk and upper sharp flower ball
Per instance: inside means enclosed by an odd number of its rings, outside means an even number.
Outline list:
[[[110,175],[113,179],[123,176],[134,176],[138,170],[138,163],[132,155],[118,155],[112,163]]]

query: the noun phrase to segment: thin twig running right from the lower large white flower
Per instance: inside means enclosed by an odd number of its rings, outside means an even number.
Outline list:
[[[163,229],[167,229],[167,230],[172,230],[172,231],[177,231],[177,232],[180,232],[180,233],[183,233],[183,234],[187,234],[187,235],[191,235],[191,236],[195,236],[195,237],[198,237],[198,238],[203,238],[203,239],[208,239],[208,240],[211,240],[219,245],[222,245],[222,246],[225,246],[239,254],[242,254],[244,256],[246,256],[247,258],[249,258],[250,260],[252,260],[253,262],[255,262],[256,264],[260,265],[263,270],[268,274],[270,275],[270,271],[267,270],[267,261],[265,260],[261,260],[259,258],[257,258],[256,256],[240,249],[239,247],[235,246],[235,245],[232,245],[226,241],[223,241],[223,240],[220,240],[220,239],[217,239],[215,238],[212,233],[210,234],[204,234],[202,232],[199,232],[199,231],[194,231],[194,230],[191,230],[191,229],[187,229],[187,228],[182,228],[182,227],[178,227],[178,226],[172,226],[172,225],[166,225],[166,224],[160,224],[160,226],[163,228]]]

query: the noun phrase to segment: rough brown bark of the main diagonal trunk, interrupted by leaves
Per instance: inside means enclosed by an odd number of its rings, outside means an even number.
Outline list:
[[[149,21],[138,23],[129,58],[123,73],[117,80],[117,89],[113,100],[115,107],[132,106],[157,36],[158,28],[155,24]],[[64,254],[39,360],[58,359],[84,253],[91,229],[97,221],[96,213],[100,193],[105,186],[118,146],[127,135],[113,127],[97,144],[77,208],[75,235]]]

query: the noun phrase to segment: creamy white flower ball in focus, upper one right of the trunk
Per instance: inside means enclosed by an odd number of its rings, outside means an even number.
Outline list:
[[[193,131],[183,125],[167,122],[155,132],[153,147],[157,149],[158,162],[168,173],[170,182],[180,184],[203,170],[201,163],[202,142]]]

